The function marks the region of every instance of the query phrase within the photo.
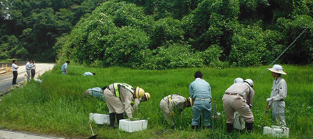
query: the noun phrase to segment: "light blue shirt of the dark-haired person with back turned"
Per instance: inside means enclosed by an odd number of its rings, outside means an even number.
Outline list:
[[[207,83],[204,79],[197,78],[195,81],[190,83],[189,85],[189,93],[191,99],[195,100],[195,98],[212,98],[211,97],[211,87],[210,84]]]

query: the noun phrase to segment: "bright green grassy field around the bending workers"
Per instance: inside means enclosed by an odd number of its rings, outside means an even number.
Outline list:
[[[313,67],[283,65],[288,84],[286,99],[287,126],[289,138],[313,138]],[[255,99],[252,107],[255,116],[253,133],[226,133],[225,114],[216,120],[216,131],[211,129],[191,130],[191,108],[186,108],[182,118],[177,120],[177,129],[170,130],[159,102],[166,95],[178,93],[188,97],[188,85],[194,80],[193,74],[200,70],[204,79],[210,83],[217,111],[223,111],[222,96],[236,77],[255,79],[262,67],[227,68],[186,68],[177,70],[131,70],[120,67],[89,68],[69,65],[67,76],[61,74],[61,65],[46,72],[40,78],[42,83],[31,82],[3,96],[0,103],[0,128],[18,131],[31,131],[65,136],[67,138],[86,138],[91,136],[88,126],[89,113],[109,113],[106,103],[93,97],[83,97],[88,88],[125,82],[144,88],[152,95],[151,101],[142,103],[136,115],[147,119],[148,129],[136,133],[125,133],[110,129],[108,125],[93,124],[100,138],[269,138],[262,135],[264,120],[271,124],[271,113],[265,117],[266,98],[271,94],[273,77],[266,72],[255,83]],[[96,72],[97,76],[82,76],[83,72]],[[168,129],[167,131],[164,131]]]

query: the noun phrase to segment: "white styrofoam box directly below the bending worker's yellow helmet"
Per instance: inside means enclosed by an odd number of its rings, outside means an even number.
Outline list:
[[[129,119],[120,120],[119,129],[129,133],[147,129],[147,120],[131,121]]]

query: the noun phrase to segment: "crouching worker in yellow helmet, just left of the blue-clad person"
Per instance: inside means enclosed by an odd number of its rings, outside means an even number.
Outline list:
[[[168,95],[164,97],[160,102],[160,109],[163,111],[164,117],[168,124],[175,129],[175,111],[182,113],[184,108],[191,107],[193,105],[193,100],[191,97],[186,98],[181,95]]]

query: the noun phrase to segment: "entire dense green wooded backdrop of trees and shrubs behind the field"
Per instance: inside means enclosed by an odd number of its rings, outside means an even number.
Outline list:
[[[266,65],[313,21],[310,0],[29,0],[11,4],[10,10],[1,9],[2,14],[10,12],[10,17],[1,16],[1,58],[29,54],[54,60],[58,54],[58,58],[96,67]],[[312,38],[310,26],[279,63],[312,63]]]

